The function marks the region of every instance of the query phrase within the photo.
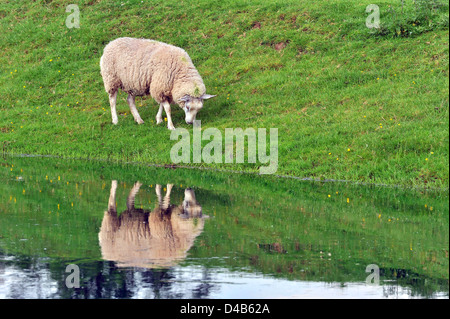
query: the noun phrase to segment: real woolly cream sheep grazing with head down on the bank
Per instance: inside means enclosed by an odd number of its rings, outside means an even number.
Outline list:
[[[135,105],[136,96],[151,95],[159,103],[156,124],[167,115],[167,128],[174,130],[170,104],[178,104],[185,121],[192,124],[203,101],[215,95],[206,94],[203,80],[191,58],[181,48],[148,39],[118,38],[108,43],[100,58],[100,73],[109,94],[112,123],[117,124],[118,89],[128,93],[127,102],[138,124],[144,121]]]

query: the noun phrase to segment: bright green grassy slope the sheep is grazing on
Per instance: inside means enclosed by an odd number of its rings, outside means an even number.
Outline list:
[[[144,125],[123,93],[111,124],[99,58],[110,40],[133,36],[189,52],[218,94],[202,128],[278,128],[278,174],[448,188],[448,28],[371,36],[371,1],[91,0],[68,29],[72,2],[0,4],[4,152],[171,163],[175,142],[149,97],[137,99]],[[398,5],[379,1],[388,4]]]

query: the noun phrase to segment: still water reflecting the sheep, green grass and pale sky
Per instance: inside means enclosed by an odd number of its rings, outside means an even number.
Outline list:
[[[0,164],[0,298],[449,297],[447,193]]]

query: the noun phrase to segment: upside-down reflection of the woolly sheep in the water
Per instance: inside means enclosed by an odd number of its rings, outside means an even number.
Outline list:
[[[153,211],[134,207],[141,183],[134,184],[127,198],[127,209],[120,215],[116,209],[117,181],[112,181],[99,233],[102,257],[119,267],[168,268],[186,258],[194,240],[203,231],[202,208],[192,189],[186,189],[183,202],[170,204],[171,184],[164,198],[156,185],[158,207]]]

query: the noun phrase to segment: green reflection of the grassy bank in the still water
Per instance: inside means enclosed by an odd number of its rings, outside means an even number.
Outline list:
[[[185,187],[196,189],[212,218],[189,256],[208,266],[213,256],[238,257],[225,262],[291,279],[344,282],[364,281],[365,267],[377,264],[389,278],[396,270],[448,280],[448,197],[441,193],[49,158],[6,159],[0,172],[6,252],[99,259],[111,180],[121,181],[118,211],[139,180],[136,203],[150,209],[157,183],[175,185],[174,204]]]

